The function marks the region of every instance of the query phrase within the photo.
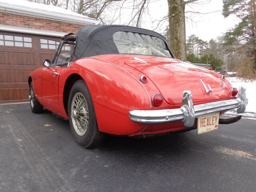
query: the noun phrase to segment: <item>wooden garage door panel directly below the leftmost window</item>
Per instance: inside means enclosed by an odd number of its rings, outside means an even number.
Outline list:
[[[0,52],[0,64],[34,65],[33,53]]]

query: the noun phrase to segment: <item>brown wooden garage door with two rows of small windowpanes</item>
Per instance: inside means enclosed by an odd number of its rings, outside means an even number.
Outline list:
[[[28,101],[28,75],[52,60],[60,38],[0,31],[0,103]]]

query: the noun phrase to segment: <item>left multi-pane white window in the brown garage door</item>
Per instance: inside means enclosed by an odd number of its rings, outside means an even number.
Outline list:
[[[32,48],[32,38],[0,34],[0,46]]]

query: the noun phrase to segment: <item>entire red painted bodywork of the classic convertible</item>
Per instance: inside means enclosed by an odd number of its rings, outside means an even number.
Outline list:
[[[134,57],[148,64],[133,60]],[[52,72],[58,72],[53,76]],[[138,135],[168,132],[183,129],[182,122],[145,126],[129,119],[130,110],[158,110],[179,108],[183,90],[192,91],[195,104],[231,99],[232,86],[227,80],[223,90],[219,82],[220,74],[210,72],[179,60],[154,56],[138,55],[101,55],[82,58],[67,67],[40,68],[30,74],[34,91],[39,102],[54,113],[68,118],[63,103],[66,80],[72,74],[80,75],[86,82],[96,112],[99,130],[118,135]],[[140,82],[145,74],[146,83]],[[37,79],[33,77],[37,76]],[[180,77],[180,78],[179,78]],[[216,93],[207,95],[201,78],[209,83]],[[220,90],[222,89],[222,91]],[[161,93],[165,101],[160,107],[154,107],[151,98]]]

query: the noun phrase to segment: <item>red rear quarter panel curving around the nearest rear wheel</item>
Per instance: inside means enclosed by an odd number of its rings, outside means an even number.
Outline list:
[[[138,108],[150,110],[150,99],[142,85],[125,70],[96,60],[83,58],[60,74],[59,106],[63,106],[65,81],[72,74],[79,74],[86,82],[94,103],[99,130],[110,134],[125,135],[142,130],[145,125],[132,122],[129,111]]]

